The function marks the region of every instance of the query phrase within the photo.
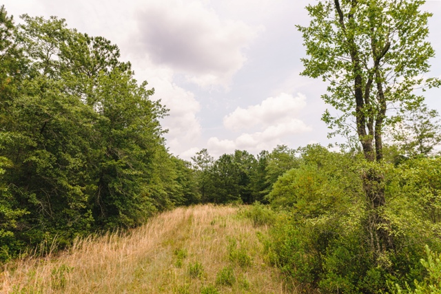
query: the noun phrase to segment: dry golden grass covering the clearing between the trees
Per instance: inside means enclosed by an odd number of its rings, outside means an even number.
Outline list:
[[[266,229],[237,211],[178,208],[124,237],[80,240],[61,255],[18,260],[0,273],[0,292],[288,293],[264,261],[257,233]]]

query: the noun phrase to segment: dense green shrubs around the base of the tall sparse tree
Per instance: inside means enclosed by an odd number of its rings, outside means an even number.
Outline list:
[[[300,167],[281,176],[270,193],[271,205],[283,211],[265,242],[269,261],[305,291],[385,293],[388,281],[405,286],[424,279],[423,244],[440,248],[440,158],[378,165],[319,147],[303,152]],[[387,220],[382,229],[395,245],[381,255],[371,248],[359,176],[373,168],[384,174],[387,203],[378,216]]]

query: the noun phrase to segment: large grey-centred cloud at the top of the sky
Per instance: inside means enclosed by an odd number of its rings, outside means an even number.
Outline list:
[[[247,60],[243,49],[259,30],[242,21],[220,19],[196,0],[147,1],[138,21],[137,50],[202,87],[226,87],[243,67]]]

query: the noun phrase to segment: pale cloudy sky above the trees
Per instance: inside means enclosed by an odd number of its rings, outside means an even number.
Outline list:
[[[252,154],[276,145],[320,143],[329,129],[321,79],[300,76],[305,57],[296,25],[308,25],[314,0],[3,0],[19,22],[57,16],[69,28],[104,36],[119,46],[138,81],[170,109],[161,121],[170,152],[189,160],[208,149],[215,158],[235,149]],[[427,76],[441,78],[441,1],[429,41],[437,56]],[[441,113],[441,90],[424,93]]]

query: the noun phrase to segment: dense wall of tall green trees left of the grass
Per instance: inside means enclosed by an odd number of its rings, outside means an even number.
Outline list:
[[[1,8],[0,52],[0,262],[199,201],[165,149],[167,109],[116,45],[57,17],[15,27]]]

